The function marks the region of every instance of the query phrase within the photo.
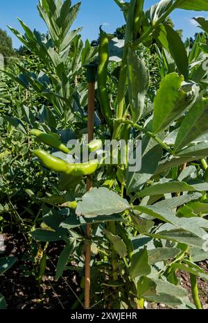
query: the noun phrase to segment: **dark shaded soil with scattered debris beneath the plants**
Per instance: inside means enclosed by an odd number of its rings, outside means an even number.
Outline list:
[[[71,309],[82,308],[76,295],[82,299],[82,290],[79,288],[79,278],[76,272],[67,270],[64,276],[55,281],[55,265],[64,245],[62,242],[51,242],[47,251],[46,272],[41,285],[35,280],[33,259],[30,259],[31,249],[24,235],[4,235],[5,251],[1,256],[15,256],[17,263],[0,276],[0,292],[6,299],[9,309]],[[28,253],[30,251],[30,253]],[[208,261],[199,263],[203,270],[208,272]],[[181,285],[189,292],[191,297],[191,284],[189,274],[179,271]],[[198,279],[200,301],[208,309],[208,282]],[[75,295],[76,294],[76,295]],[[152,308],[168,308],[164,304],[151,304]]]

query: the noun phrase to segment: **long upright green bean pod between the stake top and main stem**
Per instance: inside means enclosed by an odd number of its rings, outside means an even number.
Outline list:
[[[109,62],[109,40],[107,33],[100,27],[100,47],[98,65],[98,97],[105,120],[112,127],[112,110],[110,108],[109,95],[107,93],[107,65]]]

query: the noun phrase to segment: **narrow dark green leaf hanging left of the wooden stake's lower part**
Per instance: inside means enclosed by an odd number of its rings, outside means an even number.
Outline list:
[[[67,265],[69,256],[71,256],[75,247],[76,247],[76,240],[70,240],[62,250],[58,258],[58,264],[56,266],[55,279],[60,279],[60,277],[62,276],[64,272],[64,268]]]

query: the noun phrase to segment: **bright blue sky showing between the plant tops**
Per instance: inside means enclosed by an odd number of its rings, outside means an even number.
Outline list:
[[[78,0],[72,0],[76,3]],[[108,33],[124,23],[123,14],[116,6],[113,0],[81,0],[82,6],[78,19],[73,28],[83,26],[83,39],[94,40],[98,38],[98,28],[103,24],[103,28]],[[146,8],[151,6],[155,0],[146,0]],[[21,18],[30,28],[36,28],[38,31],[46,32],[46,26],[37,12],[38,0],[7,0],[1,1],[0,28],[8,31],[12,36],[13,47],[19,47],[20,43],[15,36],[10,33],[7,25],[17,28],[21,31],[17,17]],[[184,30],[184,38],[192,36],[199,29],[190,22],[191,17],[198,15],[207,17],[208,13],[189,12],[187,10],[175,10],[171,15],[176,28]]]

